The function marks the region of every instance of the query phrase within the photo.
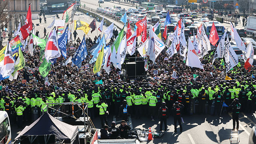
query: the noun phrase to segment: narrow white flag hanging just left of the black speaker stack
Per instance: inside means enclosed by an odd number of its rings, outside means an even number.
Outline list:
[[[124,63],[124,59],[126,56],[126,45],[127,45],[127,40],[126,40],[126,36],[124,36],[116,53],[117,68],[119,68],[120,70],[121,70],[121,65]]]

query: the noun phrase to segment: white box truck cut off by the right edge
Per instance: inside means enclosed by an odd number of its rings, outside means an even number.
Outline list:
[[[255,37],[255,35],[256,35],[256,16],[249,16],[249,18],[247,18],[245,31],[246,31],[247,35],[250,35],[253,38]]]

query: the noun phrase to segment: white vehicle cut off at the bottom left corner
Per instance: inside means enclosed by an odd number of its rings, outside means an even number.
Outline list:
[[[11,144],[11,126],[6,111],[0,111],[0,144]]]

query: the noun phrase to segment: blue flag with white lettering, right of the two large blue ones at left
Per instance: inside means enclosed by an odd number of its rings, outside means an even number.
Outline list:
[[[79,48],[76,50],[74,56],[72,57],[73,64],[75,64],[76,66],[78,66],[78,68],[80,68],[82,66],[82,61],[85,60],[87,55],[88,53],[86,48],[86,42],[85,42],[85,38],[83,38]]]

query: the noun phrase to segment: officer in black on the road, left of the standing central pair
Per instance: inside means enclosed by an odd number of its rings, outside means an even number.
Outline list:
[[[164,132],[167,132],[167,118],[169,115],[169,109],[166,107],[166,103],[162,102],[162,106],[158,110],[158,118],[160,119],[160,130],[162,132],[163,122],[164,122]]]

